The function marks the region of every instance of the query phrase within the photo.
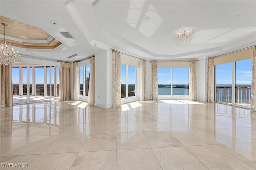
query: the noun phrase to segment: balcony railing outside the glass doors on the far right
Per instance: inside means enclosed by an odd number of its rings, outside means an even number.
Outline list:
[[[251,103],[251,86],[236,86],[235,103]],[[232,86],[217,85],[216,86],[216,101],[232,103]]]

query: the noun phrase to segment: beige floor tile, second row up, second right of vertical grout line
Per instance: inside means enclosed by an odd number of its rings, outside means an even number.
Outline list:
[[[152,148],[183,146],[170,132],[144,132]]]

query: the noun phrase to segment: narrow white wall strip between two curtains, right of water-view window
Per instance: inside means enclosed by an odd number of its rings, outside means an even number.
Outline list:
[[[199,101],[206,101],[206,90],[207,90],[207,64],[208,57],[200,57],[198,60],[198,86],[197,86],[197,99]]]

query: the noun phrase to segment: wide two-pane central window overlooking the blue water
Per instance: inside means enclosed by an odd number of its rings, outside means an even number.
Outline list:
[[[158,95],[188,95],[188,68],[158,68]]]

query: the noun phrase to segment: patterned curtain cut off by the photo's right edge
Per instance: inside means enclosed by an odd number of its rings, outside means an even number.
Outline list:
[[[252,94],[251,94],[251,110],[256,112],[256,46],[252,52]]]

